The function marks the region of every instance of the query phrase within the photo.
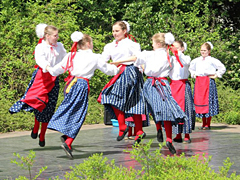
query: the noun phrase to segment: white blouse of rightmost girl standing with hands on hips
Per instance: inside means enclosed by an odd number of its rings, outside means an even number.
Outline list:
[[[217,75],[221,78],[226,72],[225,66],[218,59],[207,56],[203,59],[202,56],[194,59],[190,63],[189,71],[192,77]]]

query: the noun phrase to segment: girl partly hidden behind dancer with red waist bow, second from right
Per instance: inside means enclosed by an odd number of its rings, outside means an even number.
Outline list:
[[[178,105],[185,112],[188,117],[188,121],[185,124],[178,124],[173,126],[173,131],[177,136],[173,139],[175,142],[191,143],[190,133],[195,127],[195,111],[193,105],[193,97],[190,82],[188,81],[191,58],[186,56],[183,52],[186,50],[184,48],[184,43],[182,41],[175,41],[173,43],[174,48],[178,51],[179,59],[183,65],[180,66],[176,57],[173,57],[173,67],[169,73],[171,78],[171,91],[173,98],[177,101]],[[182,140],[181,133],[185,134],[184,140]]]

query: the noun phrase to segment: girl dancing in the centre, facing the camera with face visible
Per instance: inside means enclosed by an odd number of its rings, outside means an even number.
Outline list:
[[[117,21],[112,26],[113,37],[115,40],[104,47],[102,55],[105,61],[110,59],[115,62],[123,58],[130,57],[140,52],[140,45],[132,40],[128,34],[129,25],[123,21]],[[121,141],[128,132],[125,118],[133,116],[136,129],[135,142],[145,137],[142,130],[142,114],[145,114],[145,103],[142,94],[143,76],[139,68],[132,62],[123,63],[121,72],[115,76],[104,87],[98,102],[113,115],[119,123],[119,135],[117,141]],[[131,118],[130,118],[131,119]]]

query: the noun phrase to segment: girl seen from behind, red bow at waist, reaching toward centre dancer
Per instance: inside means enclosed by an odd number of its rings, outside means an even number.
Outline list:
[[[169,75],[172,61],[166,48],[170,48],[174,42],[174,37],[171,33],[157,33],[153,35],[152,41],[153,51],[143,51],[114,64],[132,60],[136,61],[136,65],[144,65],[144,73],[148,79],[144,83],[143,92],[148,109],[156,124],[163,121],[167,137],[166,145],[169,151],[175,154],[176,150],[172,144],[172,125],[185,123],[187,117],[173,99],[166,78]]]

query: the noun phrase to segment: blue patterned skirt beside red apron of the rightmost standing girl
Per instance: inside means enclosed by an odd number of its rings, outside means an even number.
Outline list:
[[[195,88],[195,87],[194,87]],[[196,117],[212,117],[219,114],[217,86],[214,79],[210,79],[209,83],[209,112],[206,114],[196,114]]]

